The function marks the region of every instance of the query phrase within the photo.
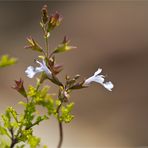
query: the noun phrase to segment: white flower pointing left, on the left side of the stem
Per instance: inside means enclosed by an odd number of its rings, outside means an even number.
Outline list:
[[[48,67],[46,66],[46,63],[45,61],[43,60],[42,62],[39,62],[39,61],[36,61],[40,67],[33,67],[33,66],[29,66],[27,67],[27,69],[25,70],[25,73],[27,74],[27,76],[29,78],[33,78],[37,73],[40,73],[40,72],[45,72],[46,75],[51,78],[52,76],[52,73],[51,71],[48,69]]]

